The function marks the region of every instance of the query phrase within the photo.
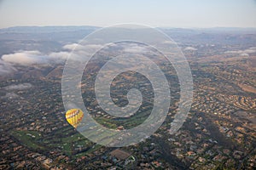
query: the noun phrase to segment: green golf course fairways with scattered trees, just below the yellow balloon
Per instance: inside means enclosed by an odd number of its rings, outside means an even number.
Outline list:
[[[65,127],[45,136],[37,131],[18,130],[12,131],[11,135],[29,148],[35,150],[60,149],[63,153],[69,156],[75,155],[76,157],[86,156],[102,147],[101,145],[93,144],[90,140],[85,139],[83,135],[70,127]],[[75,149],[78,148],[85,150],[77,153]]]

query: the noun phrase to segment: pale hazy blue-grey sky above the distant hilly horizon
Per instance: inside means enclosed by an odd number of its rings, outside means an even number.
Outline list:
[[[0,27],[256,27],[256,0],[0,0]]]

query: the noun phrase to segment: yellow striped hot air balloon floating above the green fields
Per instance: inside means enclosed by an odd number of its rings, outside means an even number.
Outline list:
[[[66,112],[66,119],[69,124],[77,128],[84,117],[83,111],[79,109],[71,109]]]

